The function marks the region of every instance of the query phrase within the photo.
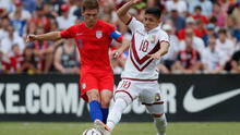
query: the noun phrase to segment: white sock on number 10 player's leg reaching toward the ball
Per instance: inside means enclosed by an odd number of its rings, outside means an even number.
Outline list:
[[[110,113],[108,114],[107,126],[113,130],[115,125],[119,123],[121,120],[122,112],[128,107],[124,99],[118,98],[111,109]]]

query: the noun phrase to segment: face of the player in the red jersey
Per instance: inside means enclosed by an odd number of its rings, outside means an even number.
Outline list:
[[[98,10],[85,10],[83,12],[84,21],[88,27],[92,27],[96,24],[98,19]]]

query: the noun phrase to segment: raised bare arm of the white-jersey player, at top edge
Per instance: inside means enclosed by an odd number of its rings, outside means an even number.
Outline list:
[[[118,10],[118,16],[119,19],[127,24],[129,22],[129,20],[131,19],[131,15],[128,13],[128,11],[130,10],[130,8],[140,2],[141,0],[130,0],[128,3],[125,3],[124,5],[122,5],[119,10]]]

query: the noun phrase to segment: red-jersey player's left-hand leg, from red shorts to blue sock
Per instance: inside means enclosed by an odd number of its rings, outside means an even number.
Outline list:
[[[89,102],[89,114],[92,121],[103,121],[97,78],[91,73],[81,72],[80,84],[81,97]]]

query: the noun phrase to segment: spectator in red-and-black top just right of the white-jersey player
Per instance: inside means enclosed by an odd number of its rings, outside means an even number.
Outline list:
[[[203,69],[201,56],[193,48],[193,38],[185,38],[185,49],[180,50],[177,56],[177,61],[172,65],[173,73],[197,73]]]

